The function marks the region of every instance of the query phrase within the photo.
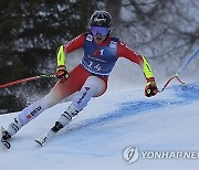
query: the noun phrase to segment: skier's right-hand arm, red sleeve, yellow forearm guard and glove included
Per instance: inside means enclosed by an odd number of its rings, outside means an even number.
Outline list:
[[[132,62],[138,64],[143,68],[143,73],[147,81],[147,85],[145,87],[145,95],[147,97],[150,97],[157,94],[158,89],[155,82],[154,73],[153,73],[150,64],[148,63],[145,56],[142,56],[140,54],[136,53],[134,50],[132,50],[129,46],[127,46],[125,43],[121,41],[118,42],[117,56],[126,57],[130,60]]]

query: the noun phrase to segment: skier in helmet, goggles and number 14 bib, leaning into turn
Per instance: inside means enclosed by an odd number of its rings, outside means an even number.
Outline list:
[[[147,97],[157,94],[158,89],[148,61],[119,39],[111,36],[113,29],[111,14],[106,11],[96,11],[92,14],[88,25],[90,32],[82,33],[59,47],[55,73],[59,82],[45,97],[19,113],[18,117],[3,130],[1,141],[9,141],[24,125],[42,111],[77,92],[72,104],[62,113],[50,131],[36,140],[43,145],[77,116],[92,97],[98,97],[105,93],[109,73],[119,57],[126,57],[142,67],[147,82],[145,87]],[[80,47],[84,50],[82,62],[67,73],[66,55]]]

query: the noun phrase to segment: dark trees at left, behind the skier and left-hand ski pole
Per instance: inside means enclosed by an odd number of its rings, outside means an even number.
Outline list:
[[[93,0],[1,0],[0,84],[54,73],[56,47],[86,31]],[[0,89],[0,109],[20,110],[24,94],[49,92],[55,81],[42,79]],[[30,88],[31,87],[31,88]],[[21,95],[23,91],[23,95]]]

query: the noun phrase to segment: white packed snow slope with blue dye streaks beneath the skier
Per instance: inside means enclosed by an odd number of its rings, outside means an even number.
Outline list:
[[[129,164],[128,146],[139,150],[199,152],[199,83],[170,85],[147,98],[143,89],[107,93],[94,98],[69,127],[44,147],[34,139],[48,131],[70,105],[59,104],[24,126],[0,147],[0,170],[198,170],[199,158],[144,159]],[[1,115],[7,127],[18,113]]]

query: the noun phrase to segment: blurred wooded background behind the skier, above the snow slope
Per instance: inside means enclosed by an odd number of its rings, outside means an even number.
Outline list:
[[[113,35],[148,59],[159,87],[199,46],[198,0],[0,0],[0,84],[54,73],[57,46],[88,31],[96,10],[107,10]],[[82,50],[67,55],[69,71],[82,55]],[[199,59],[190,63],[184,81],[199,81],[198,65]],[[1,88],[0,114],[21,110],[46,95],[55,82],[38,79]],[[145,87],[140,67],[119,60],[108,92],[135,87]]]

